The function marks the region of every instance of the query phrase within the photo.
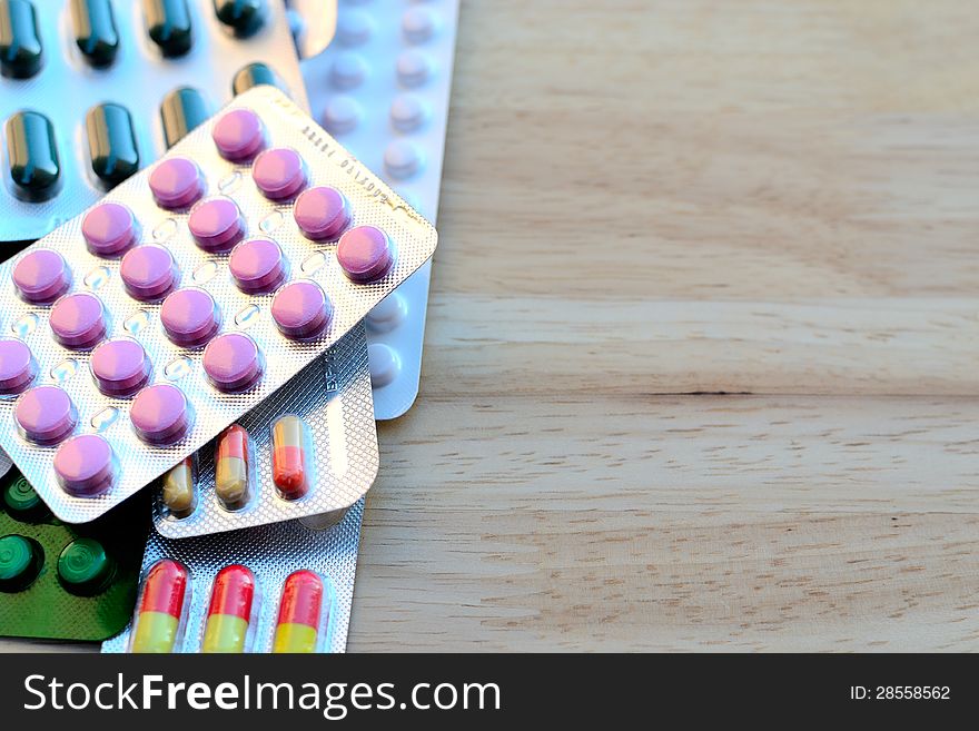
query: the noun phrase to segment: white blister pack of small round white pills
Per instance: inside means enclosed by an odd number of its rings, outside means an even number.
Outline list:
[[[301,63],[324,127],[428,220],[438,213],[458,0],[340,0],[334,42]],[[374,413],[418,395],[431,264],[367,316]]]

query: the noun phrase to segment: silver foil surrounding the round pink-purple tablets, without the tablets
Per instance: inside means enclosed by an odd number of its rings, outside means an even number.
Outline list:
[[[261,120],[266,151],[290,149],[305,162],[306,181],[300,200],[314,189],[317,192],[333,189],[348,202],[344,236],[355,230],[373,231],[372,236],[383,233],[382,238],[392,245],[394,255],[382,278],[366,284],[348,278],[337,256],[343,237],[338,245],[333,240],[316,241],[304,236],[294,217],[291,200],[276,202],[268,199],[253,180],[250,161],[231,162],[218,152],[212,139],[215,126],[226,115],[237,118],[253,112]],[[192,161],[202,174],[202,197],[189,210],[165,210],[150,194],[149,178],[154,171],[177,159],[187,164]],[[227,210],[228,201],[237,206],[240,216],[236,226],[244,226],[246,241],[257,237],[271,240],[280,248],[288,263],[287,277],[275,294],[243,293],[229,273],[227,254],[209,253],[195,243],[188,219],[205,204],[214,208],[215,201],[221,201],[222,210]],[[87,248],[86,240],[89,245],[91,241],[82,236],[82,221],[95,209],[101,214],[113,207],[116,211],[122,207],[132,213],[137,231],[132,250],[148,245],[168,249],[179,268],[175,284],[178,292],[202,292],[216,303],[220,312],[220,335],[216,335],[207,347],[188,348],[171,343],[160,323],[160,304],[134,299],[120,280],[119,259],[97,256],[90,247]],[[57,386],[70,395],[77,409],[77,425],[70,435],[65,435],[67,442],[61,442],[60,447],[40,445],[24,438],[14,419],[18,404],[26,394],[0,398],[0,445],[58,517],[71,523],[93,520],[204,446],[221,428],[260,404],[306,364],[325,353],[372,307],[427,261],[436,241],[435,229],[427,220],[283,92],[267,86],[246,91],[190,132],[158,164],[129,178],[89,211],[0,265],[0,283],[3,283],[0,286],[4,288],[0,333],[7,339],[26,344],[36,360],[37,375],[29,384],[31,391],[26,393],[30,394],[41,385]],[[131,406],[140,396],[130,399],[103,395],[90,375],[91,352],[69,348],[53,339],[49,319],[58,307],[57,303],[53,307],[34,305],[18,296],[12,273],[24,257],[40,250],[53,251],[67,261],[71,285],[66,298],[82,293],[100,300],[107,315],[105,338],[137,340],[152,363],[149,383],[176,386],[186,396],[188,414],[192,418],[187,419],[186,435],[178,442],[160,446],[140,439],[130,419]],[[297,283],[301,283],[303,292],[318,287],[332,305],[326,329],[313,339],[287,337],[279,329],[281,320],[279,326],[273,322],[270,310],[275,298],[286,287],[295,294]],[[90,297],[76,297],[72,306],[81,299],[90,300]],[[241,345],[247,346],[249,357],[255,356],[256,349],[261,354],[261,376],[247,391],[226,393],[215,388],[215,378],[219,374],[227,375],[217,356],[215,367],[205,373],[207,353],[218,340],[221,340],[221,347],[214,350],[219,355],[231,353],[238,358],[240,353],[236,348]],[[257,367],[257,358],[251,357],[251,360]],[[165,391],[162,387],[156,389],[158,393]],[[89,437],[91,434],[102,439]],[[60,483],[56,474],[58,450],[65,448],[72,458],[82,452],[92,452],[78,448],[80,443],[75,441],[81,438],[79,435],[86,435],[87,445],[98,442],[99,448],[105,448],[102,443],[111,446],[111,486],[97,495],[79,495],[78,490],[70,494],[61,487],[67,483],[65,472],[59,473]],[[69,444],[72,450],[67,448]],[[69,470],[76,466],[67,458],[61,465]],[[88,468],[88,465],[80,465],[79,470],[82,467]]]

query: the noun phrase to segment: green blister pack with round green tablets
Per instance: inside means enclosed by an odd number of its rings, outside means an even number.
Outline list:
[[[16,467],[0,477],[0,635],[96,641],[119,633],[136,603],[148,492],[70,525]]]

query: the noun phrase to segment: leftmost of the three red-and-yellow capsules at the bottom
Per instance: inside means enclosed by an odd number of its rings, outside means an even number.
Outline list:
[[[184,620],[190,605],[190,572],[184,564],[161,559],[142,580],[136,616],[132,618],[135,653],[179,650]]]

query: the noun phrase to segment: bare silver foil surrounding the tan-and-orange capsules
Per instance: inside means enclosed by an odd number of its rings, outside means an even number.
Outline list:
[[[305,448],[309,491],[298,500],[283,497],[273,481],[273,426],[285,415],[303,419],[310,437]],[[189,514],[172,514],[162,490],[155,491],[154,523],[162,535],[184,539],[234,531],[334,513],[357,502],[374,483],[378,466],[363,325],[237,423],[251,437],[250,500],[241,510],[229,510],[219,500],[216,450],[207,445],[198,453],[197,501]]]

